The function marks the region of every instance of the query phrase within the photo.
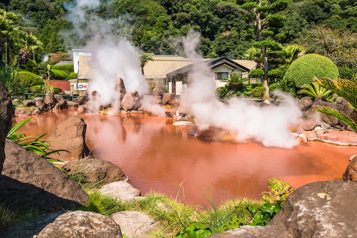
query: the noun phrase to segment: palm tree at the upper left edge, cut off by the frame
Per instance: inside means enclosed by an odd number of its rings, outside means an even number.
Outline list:
[[[0,61],[4,46],[6,47],[6,64],[10,61],[10,38],[19,29],[18,15],[11,11],[0,9]]]

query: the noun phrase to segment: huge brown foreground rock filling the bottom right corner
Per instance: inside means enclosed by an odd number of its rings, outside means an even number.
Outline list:
[[[286,200],[265,227],[243,226],[211,238],[355,237],[357,183],[342,180],[309,183]]]

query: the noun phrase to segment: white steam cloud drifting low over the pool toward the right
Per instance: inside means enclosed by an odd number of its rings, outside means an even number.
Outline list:
[[[199,57],[195,51],[199,38],[198,33],[191,31],[182,39],[187,57]],[[199,129],[213,126],[231,132],[237,141],[254,139],[264,146],[292,148],[299,143],[289,129],[301,117],[292,97],[277,92],[284,102],[263,108],[240,98],[223,103],[215,96],[214,74],[209,66],[204,62],[194,66],[188,74],[189,85],[181,96],[181,106],[193,114]]]

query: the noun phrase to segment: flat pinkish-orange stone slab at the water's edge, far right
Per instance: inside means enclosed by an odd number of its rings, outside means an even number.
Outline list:
[[[357,133],[349,130],[320,134],[317,139],[340,145],[357,145]]]

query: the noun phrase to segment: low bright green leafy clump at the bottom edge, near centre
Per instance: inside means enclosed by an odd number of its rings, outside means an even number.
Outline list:
[[[181,230],[176,238],[204,238],[216,233],[219,233],[217,229],[208,227],[201,222],[194,222],[186,229]]]

